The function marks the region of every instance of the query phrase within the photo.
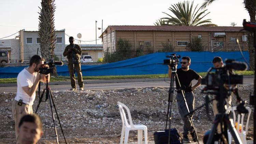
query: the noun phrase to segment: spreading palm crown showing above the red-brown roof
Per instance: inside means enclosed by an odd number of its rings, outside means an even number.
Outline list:
[[[205,14],[207,10],[199,12],[200,8],[197,9],[198,4],[195,9],[193,9],[193,4],[194,1],[191,3],[191,5],[189,4],[189,1],[173,4],[168,10],[170,10],[176,17],[163,12],[169,17],[163,17],[161,20],[164,24],[174,26],[217,26],[212,24],[211,19],[202,20],[210,12],[207,14]]]

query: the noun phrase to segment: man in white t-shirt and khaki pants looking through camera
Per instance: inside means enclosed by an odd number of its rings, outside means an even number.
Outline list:
[[[46,83],[46,75],[39,74],[39,68],[44,65],[44,59],[34,55],[30,59],[29,67],[24,68],[17,77],[17,94],[12,103],[12,113],[15,121],[16,140],[18,140],[18,124],[22,116],[33,114],[32,105],[35,100],[35,91],[39,81]],[[50,76],[48,74],[48,82]]]

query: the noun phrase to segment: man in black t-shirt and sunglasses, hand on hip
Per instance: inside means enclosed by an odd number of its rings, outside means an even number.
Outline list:
[[[188,131],[190,131],[190,134],[193,138],[193,141],[196,142],[197,138],[196,138],[196,133],[193,129],[192,123],[189,120],[189,117],[184,117],[184,115],[186,115],[188,113],[187,111],[187,107],[186,104],[184,102],[183,96],[182,96],[182,91],[181,89],[185,92],[185,98],[187,101],[187,105],[188,105],[188,109],[189,111],[193,111],[194,110],[194,105],[195,105],[195,96],[193,91],[201,85],[201,76],[198,75],[195,71],[189,69],[191,60],[189,57],[182,57],[181,60],[181,68],[177,69],[177,75],[180,81],[180,85],[179,82],[177,80],[177,77],[175,77],[175,82],[176,82],[176,89],[177,89],[177,104],[178,104],[178,108],[179,108],[179,112],[180,115],[182,117],[182,120],[184,122],[183,125],[183,141],[185,143],[190,143],[189,139],[188,139]],[[169,66],[169,71],[168,71],[169,77],[171,77],[171,68]],[[197,80],[197,83],[192,86],[192,80]],[[192,115],[193,116],[193,115]]]

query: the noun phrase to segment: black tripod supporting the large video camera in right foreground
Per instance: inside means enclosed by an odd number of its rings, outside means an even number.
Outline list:
[[[219,113],[216,115],[214,121],[211,133],[209,135],[207,144],[213,143],[215,140],[220,141],[222,143],[228,142],[228,132],[227,128],[229,129],[232,137],[234,138],[234,141],[236,144],[242,144],[242,141],[237,133],[236,128],[234,127],[233,123],[230,122],[228,118],[228,114],[225,112],[225,98],[226,98],[226,90],[224,88],[224,82],[221,80],[219,81],[219,90],[217,93],[216,100],[218,101],[218,111]],[[221,125],[221,136],[216,137],[216,128],[218,124]],[[224,126],[223,126],[224,125]],[[224,129],[223,129],[224,128]]]

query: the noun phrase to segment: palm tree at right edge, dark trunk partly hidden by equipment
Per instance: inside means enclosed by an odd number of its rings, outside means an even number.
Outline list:
[[[206,6],[211,4],[215,0],[204,0],[201,8],[204,9]],[[243,2],[244,8],[248,11],[250,15],[250,22],[255,23],[255,16],[256,16],[256,0],[244,0]],[[242,20],[241,20],[242,21]],[[253,47],[253,33],[248,32],[248,52],[250,58],[250,65],[254,69],[255,59],[254,59],[254,47]]]

